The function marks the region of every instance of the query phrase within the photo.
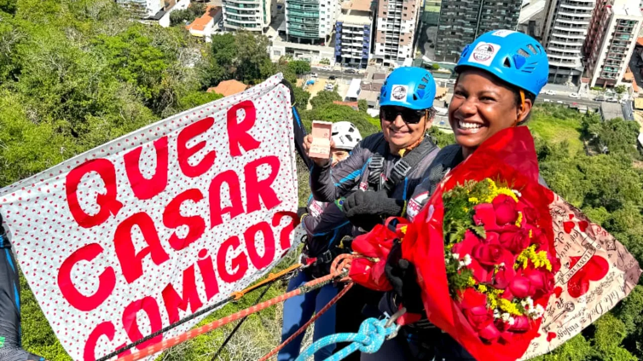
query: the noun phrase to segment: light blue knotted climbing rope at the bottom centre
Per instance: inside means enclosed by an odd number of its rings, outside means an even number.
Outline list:
[[[389,335],[395,336],[395,333],[397,333],[397,324],[391,321],[392,319],[388,318],[378,320],[371,317],[366,319],[359,326],[358,333],[336,333],[335,335],[323,337],[300,353],[295,361],[305,361],[320,349],[339,342],[352,342],[352,344],[341,349],[325,361],[340,361],[358,350],[363,353],[375,353],[382,347],[386,337]]]

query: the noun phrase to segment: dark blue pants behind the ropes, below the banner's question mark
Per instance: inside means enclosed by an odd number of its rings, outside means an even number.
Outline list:
[[[312,276],[306,272],[298,272],[288,283],[288,291],[312,281]],[[323,306],[326,306],[337,295],[337,288],[332,284],[325,285],[318,290],[308,292],[307,294],[297,295],[284,302],[284,326],[282,326],[282,342],[291,337],[295,331],[299,330],[312,315],[319,312]],[[324,312],[314,323],[313,340],[321,339],[335,332],[335,305]],[[277,355],[277,361],[291,361],[299,356],[302,347],[303,333],[287,344]],[[328,346],[320,349],[315,354],[315,361],[325,360],[332,355],[334,346]]]

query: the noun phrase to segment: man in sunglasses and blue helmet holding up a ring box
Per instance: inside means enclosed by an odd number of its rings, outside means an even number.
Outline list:
[[[345,198],[342,207],[354,225],[354,235],[389,216],[405,215],[408,198],[439,151],[426,136],[435,115],[435,91],[433,76],[426,69],[395,69],[380,91],[382,132],[359,142],[332,170],[329,159],[311,158],[312,195],[321,202]],[[304,138],[307,153],[311,142],[311,136]],[[342,243],[347,246],[350,241]],[[379,315],[379,299],[379,292],[354,286],[337,304],[336,331],[356,332],[369,309]],[[354,358],[359,360],[359,355]]]

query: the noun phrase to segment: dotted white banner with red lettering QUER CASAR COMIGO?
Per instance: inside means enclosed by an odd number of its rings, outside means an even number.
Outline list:
[[[225,299],[289,250],[297,176],[281,80],[4,189],[0,211],[21,269],[74,360],[93,361]]]

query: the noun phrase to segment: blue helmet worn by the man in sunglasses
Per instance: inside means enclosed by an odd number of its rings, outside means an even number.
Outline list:
[[[433,107],[435,80],[421,67],[398,67],[386,78],[379,92],[379,105],[392,105],[415,110]]]

